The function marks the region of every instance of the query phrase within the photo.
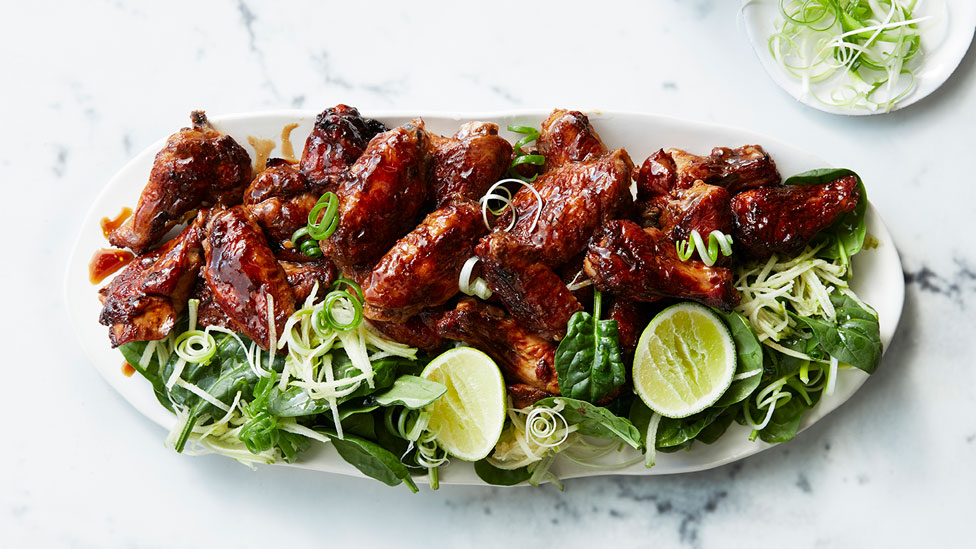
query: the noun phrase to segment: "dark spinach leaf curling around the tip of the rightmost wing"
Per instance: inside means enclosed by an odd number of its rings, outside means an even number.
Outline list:
[[[817,254],[827,259],[851,257],[861,251],[864,246],[864,237],[867,234],[864,213],[868,207],[868,194],[864,189],[861,177],[844,168],[821,168],[794,175],[783,182],[784,185],[822,185],[847,175],[853,175],[857,178],[857,190],[860,192],[861,198],[853,210],[841,215],[833,225],[821,231],[817,239],[814,240],[815,243],[818,240],[829,242]]]

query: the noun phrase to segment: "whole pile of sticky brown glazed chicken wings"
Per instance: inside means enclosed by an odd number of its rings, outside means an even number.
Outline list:
[[[109,237],[137,254],[99,292],[113,346],[166,337],[195,298],[201,325],[267,349],[269,328],[281,334],[316,283],[321,291],[344,276],[362,286],[373,328],[427,351],[449,340],[485,351],[520,407],[559,394],[555,349],[594,288],[632,352],[662,301],[731,310],[732,260],[796,253],[860,199],[853,177],[783,186],[758,145],[708,156],[662,149],[635,167],[578,111],[553,111],[529,151],[513,150],[492,123],[443,137],[421,120],[388,129],[338,105],[316,118],[297,165],[271,159],[257,174],[203,112],[191,121],[156,155],[133,215]],[[490,229],[479,200],[528,153],[545,164],[518,166],[538,177],[531,189],[511,187],[511,206],[487,214]],[[338,225],[318,243],[322,256],[309,257],[290,239],[329,191]],[[733,257],[682,261],[675,242],[693,230],[732,235]],[[488,300],[459,293],[472,256]]]

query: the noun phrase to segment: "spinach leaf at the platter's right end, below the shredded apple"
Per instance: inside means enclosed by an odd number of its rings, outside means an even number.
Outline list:
[[[813,332],[824,352],[837,360],[873,374],[881,363],[881,329],[874,314],[847,296],[831,295],[836,320],[793,315]]]

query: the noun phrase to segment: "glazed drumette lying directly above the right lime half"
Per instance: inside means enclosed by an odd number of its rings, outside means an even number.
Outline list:
[[[590,242],[584,266],[597,290],[620,299],[677,297],[724,311],[739,302],[731,270],[695,259],[681,261],[667,235],[632,221],[607,223],[602,236]]]

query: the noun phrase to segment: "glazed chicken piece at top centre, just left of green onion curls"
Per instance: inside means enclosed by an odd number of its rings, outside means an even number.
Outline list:
[[[498,137],[498,126],[468,122],[450,139],[434,139],[430,182],[437,207],[453,200],[479,200],[504,177],[512,145]]]

